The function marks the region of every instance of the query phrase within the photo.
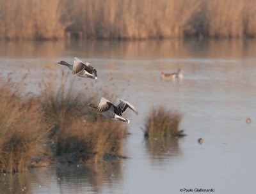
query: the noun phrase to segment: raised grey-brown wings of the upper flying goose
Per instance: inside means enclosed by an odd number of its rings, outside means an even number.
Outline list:
[[[94,74],[95,77],[97,77],[97,70],[92,65],[90,65],[90,63],[83,63],[83,61],[81,61],[77,57],[74,57],[73,74],[77,75],[83,70],[87,71],[90,74]]]

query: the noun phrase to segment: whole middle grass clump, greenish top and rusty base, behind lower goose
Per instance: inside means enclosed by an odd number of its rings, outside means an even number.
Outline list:
[[[52,126],[49,138],[54,142],[54,154],[60,161],[72,163],[102,161],[106,154],[122,155],[126,126],[109,121],[88,107],[93,99],[99,100],[98,94],[85,94],[93,88],[76,88],[74,79],[69,78],[63,73],[60,82],[52,79],[41,86],[41,108],[45,121]]]

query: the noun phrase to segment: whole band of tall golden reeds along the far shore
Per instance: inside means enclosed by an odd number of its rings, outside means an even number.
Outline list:
[[[253,0],[0,0],[0,38],[255,37]]]

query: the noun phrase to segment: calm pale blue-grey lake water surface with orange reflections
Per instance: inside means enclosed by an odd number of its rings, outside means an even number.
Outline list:
[[[77,56],[99,71],[97,85],[113,77],[116,91],[140,114],[129,114],[124,152],[129,158],[100,165],[58,165],[1,175],[1,193],[253,193],[256,179],[255,40],[44,41],[0,43],[1,76],[28,70],[32,82],[61,74]],[[44,72],[42,72],[42,68]],[[177,71],[182,81],[163,81]],[[77,77],[77,80],[79,78]],[[93,80],[79,79],[92,84]],[[104,83],[104,84],[102,84]],[[36,86],[33,92],[36,93]],[[30,88],[30,89],[31,89]],[[116,90],[116,91],[115,91]],[[95,100],[97,103],[99,99]],[[151,107],[164,105],[184,114],[179,140],[143,138]],[[252,118],[246,124],[247,117]],[[204,138],[202,145],[199,137]],[[22,189],[26,189],[22,191]],[[195,191],[193,193],[196,193]],[[201,192],[202,193],[202,192]],[[205,192],[206,193],[206,192]]]

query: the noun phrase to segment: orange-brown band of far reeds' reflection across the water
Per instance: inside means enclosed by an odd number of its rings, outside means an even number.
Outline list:
[[[1,41],[0,57],[88,57],[108,59],[179,59],[250,57],[256,40],[148,40],[148,41]]]

